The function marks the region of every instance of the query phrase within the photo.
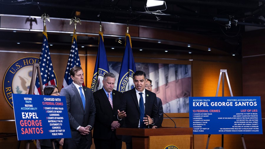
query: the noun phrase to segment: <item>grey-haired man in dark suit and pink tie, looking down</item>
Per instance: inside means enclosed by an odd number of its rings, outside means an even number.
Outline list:
[[[115,84],[113,73],[105,73],[102,83],[103,88],[93,93],[96,105],[93,129],[95,148],[121,149],[122,136],[116,135],[116,128],[123,124],[123,121],[117,119],[122,94],[113,89]]]

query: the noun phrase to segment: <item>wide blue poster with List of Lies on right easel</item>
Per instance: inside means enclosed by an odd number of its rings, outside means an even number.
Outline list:
[[[189,97],[194,135],[262,134],[260,96]]]

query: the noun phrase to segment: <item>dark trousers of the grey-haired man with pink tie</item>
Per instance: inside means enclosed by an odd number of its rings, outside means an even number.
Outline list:
[[[95,139],[95,148],[96,149],[121,149],[122,140],[118,139],[115,135],[115,132],[112,132],[110,139]]]

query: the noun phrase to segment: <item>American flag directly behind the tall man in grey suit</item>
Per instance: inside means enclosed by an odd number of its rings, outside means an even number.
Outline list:
[[[63,81],[62,88],[70,85],[73,82],[73,80],[70,76],[71,68],[73,68],[74,66],[80,66],[81,67],[76,38],[77,38],[77,35],[73,35],[72,48],[71,48],[68,62],[67,62],[67,66],[65,69],[64,81]],[[83,86],[84,86],[84,83],[83,83]]]

